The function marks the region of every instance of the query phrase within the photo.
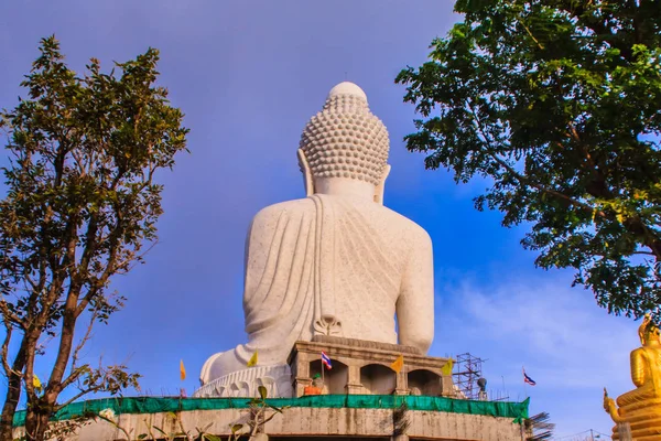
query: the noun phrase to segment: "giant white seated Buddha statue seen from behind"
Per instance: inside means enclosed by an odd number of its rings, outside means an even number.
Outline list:
[[[365,93],[353,83],[335,86],[301,138],[307,197],[263,208],[250,225],[248,343],[212,356],[203,385],[246,369],[256,351],[258,366],[285,365],[294,342],[316,334],[426,354],[434,334],[432,243],[382,204],[388,151],[388,131]]]

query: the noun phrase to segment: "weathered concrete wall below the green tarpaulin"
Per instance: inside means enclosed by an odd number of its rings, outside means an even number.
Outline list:
[[[230,434],[229,428],[236,423],[245,423],[247,416],[247,409],[193,410],[178,412],[177,418],[181,421],[176,421],[172,418],[172,412],[126,413],[117,416],[117,423],[136,438],[148,433],[150,427],[161,428],[165,432],[178,432],[183,427],[193,434],[196,433],[195,428],[205,428],[207,433],[226,439]],[[522,439],[521,427],[512,422],[512,418],[419,410],[408,411],[405,418],[410,426],[403,438],[397,438],[398,441],[405,441],[405,437],[412,441],[520,441]],[[23,428],[14,430],[15,437],[23,433]],[[289,408],[267,422],[264,433],[269,435],[270,441],[392,440],[394,439],[393,410]],[[126,437],[109,422],[93,420],[64,439],[66,441],[113,441],[123,440]]]

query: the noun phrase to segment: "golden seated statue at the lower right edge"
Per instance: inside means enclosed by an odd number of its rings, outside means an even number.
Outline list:
[[[638,335],[642,347],[631,352],[636,389],[614,400],[604,388],[604,409],[616,423],[630,424],[633,440],[661,440],[661,332],[646,315]],[[617,426],[613,439],[620,439]]]

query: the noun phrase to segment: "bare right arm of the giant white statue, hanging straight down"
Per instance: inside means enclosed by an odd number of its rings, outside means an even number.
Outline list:
[[[434,337],[434,263],[432,240],[419,232],[397,301],[399,343],[426,354]]]

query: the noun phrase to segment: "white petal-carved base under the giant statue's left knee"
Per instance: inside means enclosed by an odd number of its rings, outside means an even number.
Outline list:
[[[256,366],[217,378],[193,394],[194,397],[258,397],[259,386],[270,398],[291,398],[292,372],[289,365]]]

